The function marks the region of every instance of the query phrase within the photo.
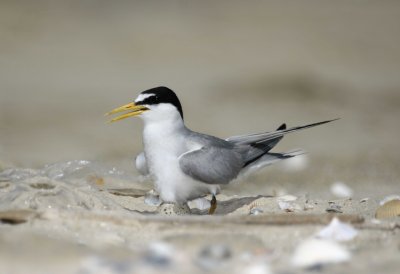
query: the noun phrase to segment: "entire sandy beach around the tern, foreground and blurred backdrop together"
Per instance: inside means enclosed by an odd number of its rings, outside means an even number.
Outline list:
[[[375,213],[400,195],[399,25],[396,1],[0,1],[0,272],[397,273],[399,217]],[[159,216],[140,121],[103,117],[157,85],[219,137],[341,119],[285,137],[308,154],[224,189],[217,216]],[[293,266],[332,205],[350,259]]]

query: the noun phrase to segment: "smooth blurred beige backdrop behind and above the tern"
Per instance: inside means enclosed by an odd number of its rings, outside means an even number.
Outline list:
[[[340,180],[391,194],[399,26],[398,1],[1,0],[0,168],[88,159],[134,172],[141,122],[103,114],[166,85],[190,128],[220,137],[341,118],[287,136],[276,150],[304,148],[308,166],[265,169],[245,192],[324,195]]]

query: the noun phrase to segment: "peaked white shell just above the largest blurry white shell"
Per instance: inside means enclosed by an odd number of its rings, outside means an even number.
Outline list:
[[[354,239],[357,234],[358,231],[351,225],[340,222],[338,218],[333,218],[331,223],[319,231],[316,236],[321,239],[342,242]]]

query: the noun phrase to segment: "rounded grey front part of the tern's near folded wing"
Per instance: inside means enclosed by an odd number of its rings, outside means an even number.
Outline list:
[[[243,164],[241,154],[228,147],[205,146],[179,157],[185,174],[207,184],[228,184],[238,176]]]

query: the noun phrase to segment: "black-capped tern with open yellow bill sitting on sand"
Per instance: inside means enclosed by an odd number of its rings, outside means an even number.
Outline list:
[[[167,87],[143,91],[134,102],[106,115],[125,112],[115,122],[139,116],[144,122],[144,152],[136,157],[136,168],[149,174],[163,202],[187,206],[187,202],[211,194],[211,208],[220,185],[227,185],[243,174],[303,153],[271,153],[270,150],[290,132],[322,125],[333,120],[220,139],[188,129],[181,103]]]

